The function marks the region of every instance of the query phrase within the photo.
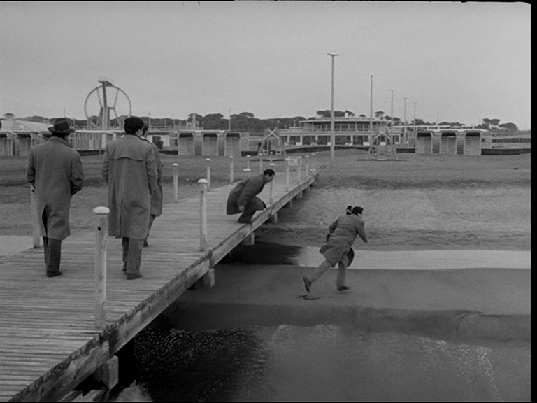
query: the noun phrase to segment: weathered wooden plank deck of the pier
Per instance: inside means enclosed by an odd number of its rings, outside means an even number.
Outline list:
[[[0,259],[0,402],[52,402],[107,362],[171,302],[273,213],[300,197],[318,174],[298,181],[278,173],[261,195],[268,208],[251,225],[226,215],[233,185],[207,195],[207,248],[199,250],[199,197],[164,206],[144,248],[143,278],[122,273],[119,239],[108,238],[106,328],[94,326],[95,229],[62,243],[63,276],[45,277],[43,249]],[[97,222],[97,221],[96,221]],[[217,281],[217,278],[216,278]]]

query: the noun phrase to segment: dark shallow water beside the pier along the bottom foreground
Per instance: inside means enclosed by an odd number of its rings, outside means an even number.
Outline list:
[[[132,344],[136,381],[130,388],[117,388],[108,400],[531,399],[529,344],[453,344],[394,333],[348,332],[331,325],[194,332],[147,329]]]

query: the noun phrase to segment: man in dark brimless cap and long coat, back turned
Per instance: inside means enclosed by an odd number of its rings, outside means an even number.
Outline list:
[[[102,173],[108,183],[108,234],[122,239],[127,280],[142,277],[143,241],[149,232],[151,194],[157,188],[155,153],[143,141],[143,120],[125,119],[125,135],[106,145]]]

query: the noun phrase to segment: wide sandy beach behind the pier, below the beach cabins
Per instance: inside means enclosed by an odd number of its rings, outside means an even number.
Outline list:
[[[371,241],[368,248],[531,248],[531,154],[524,155],[398,155],[377,161],[358,150],[336,150],[309,157],[320,171],[315,191],[267,225],[268,241],[317,245],[334,214],[348,204],[366,208]],[[303,160],[306,155],[302,154]],[[178,164],[179,197],[195,197],[197,181],[206,176],[205,157],[161,155],[164,203],[173,201],[172,164]],[[71,202],[71,229],[94,225],[92,208],[107,205],[99,155],[85,156],[85,187]],[[235,179],[243,177],[247,158],[235,159]],[[283,161],[275,161],[285,174]],[[0,234],[30,235],[29,185],[24,157],[0,159]],[[253,173],[258,162],[251,162]],[[268,168],[268,161],[264,162]],[[229,183],[229,157],[211,157],[211,185]]]

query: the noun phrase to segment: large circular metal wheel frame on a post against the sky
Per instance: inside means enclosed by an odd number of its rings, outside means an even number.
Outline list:
[[[131,115],[131,100],[119,87],[108,80],[87,94],[84,113],[92,129],[113,129],[123,127],[124,118]]]

